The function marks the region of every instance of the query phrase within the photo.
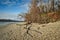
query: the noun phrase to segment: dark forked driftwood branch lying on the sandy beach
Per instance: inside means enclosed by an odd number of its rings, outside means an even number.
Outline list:
[[[32,35],[29,31],[35,31],[35,32],[37,32],[37,33],[39,33],[39,34],[42,34],[41,32],[39,32],[39,31],[37,31],[37,30],[31,29],[31,27],[32,27],[32,22],[27,22],[26,24],[22,24],[22,25],[19,25],[19,26],[23,26],[23,25],[26,25],[26,26],[24,27],[24,29],[26,29],[26,32],[23,34],[24,37],[26,37],[26,38],[27,38],[27,35],[29,35],[30,37],[33,38],[33,35]],[[24,37],[23,37],[23,40],[24,40]]]

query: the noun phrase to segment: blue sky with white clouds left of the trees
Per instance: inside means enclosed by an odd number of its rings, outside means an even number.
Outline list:
[[[17,19],[19,13],[26,13],[30,0],[0,0],[0,19]]]

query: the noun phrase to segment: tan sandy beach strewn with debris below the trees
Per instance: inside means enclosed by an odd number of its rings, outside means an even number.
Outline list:
[[[48,24],[32,23],[29,34],[22,25],[10,24],[0,29],[0,40],[60,40],[60,21]]]

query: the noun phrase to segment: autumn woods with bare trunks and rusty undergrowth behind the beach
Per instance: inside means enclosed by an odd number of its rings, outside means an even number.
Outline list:
[[[24,15],[25,21],[49,23],[60,20],[60,0],[31,0],[30,10]],[[21,15],[19,15],[21,16]]]

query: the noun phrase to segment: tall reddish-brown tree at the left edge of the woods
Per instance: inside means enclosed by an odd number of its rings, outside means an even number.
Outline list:
[[[32,0],[32,2],[31,2],[31,7],[30,7],[29,13],[31,14],[32,22],[38,21],[37,17],[38,17],[38,14],[40,13],[40,9],[39,9],[39,7],[37,7],[37,3],[38,3],[37,0]]]

